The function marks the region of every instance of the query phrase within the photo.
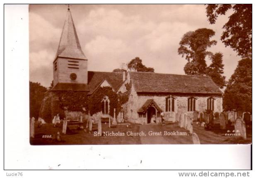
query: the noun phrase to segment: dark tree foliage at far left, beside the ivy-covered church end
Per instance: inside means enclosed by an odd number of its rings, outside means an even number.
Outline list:
[[[41,83],[29,81],[29,117],[38,118],[43,95],[47,88]]]

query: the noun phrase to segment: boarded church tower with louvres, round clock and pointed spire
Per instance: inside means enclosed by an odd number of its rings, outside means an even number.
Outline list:
[[[56,57],[53,61],[53,87],[64,85],[87,86],[87,58],[82,52],[70,9],[60,37]],[[58,87],[57,87],[58,88]]]

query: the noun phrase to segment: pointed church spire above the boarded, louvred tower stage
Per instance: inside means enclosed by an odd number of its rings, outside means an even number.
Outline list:
[[[56,58],[57,57],[87,59],[82,52],[69,6],[60,37],[60,43],[56,54]]]

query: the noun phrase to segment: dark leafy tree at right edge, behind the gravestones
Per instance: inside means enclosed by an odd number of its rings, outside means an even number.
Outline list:
[[[252,58],[245,55],[228,81],[223,98],[225,110],[252,112]]]

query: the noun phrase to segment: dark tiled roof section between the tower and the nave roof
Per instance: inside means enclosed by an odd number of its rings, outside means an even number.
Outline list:
[[[88,71],[89,94],[92,94],[104,80],[106,80],[111,87],[117,91],[123,84],[123,73]]]

